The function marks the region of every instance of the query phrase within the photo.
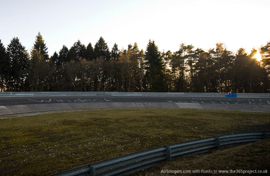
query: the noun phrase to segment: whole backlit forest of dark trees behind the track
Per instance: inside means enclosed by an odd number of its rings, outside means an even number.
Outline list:
[[[145,51],[137,43],[110,50],[102,37],[47,50],[40,33],[30,53],[17,37],[7,48],[0,40],[0,91],[270,92],[270,42],[250,54],[223,43],[208,51],[181,43],[165,53],[153,40]]]

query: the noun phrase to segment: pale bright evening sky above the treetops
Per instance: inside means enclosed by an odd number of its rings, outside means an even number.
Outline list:
[[[208,51],[222,42],[250,53],[270,41],[269,0],[0,0],[0,39],[18,37],[28,51],[41,33],[51,56],[80,40],[92,46],[102,36],[111,49],[154,40],[160,52],[181,43]]]

